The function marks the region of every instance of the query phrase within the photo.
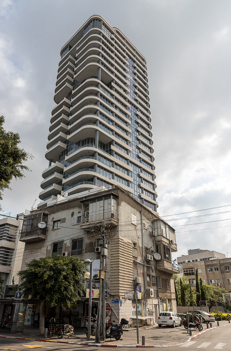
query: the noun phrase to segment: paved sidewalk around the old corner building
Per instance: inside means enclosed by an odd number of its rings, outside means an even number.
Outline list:
[[[231,325],[231,323],[228,323],[226,320],[219,321],[219,326],[224,326],[224,325]],[[214,327],[217,327],[217,322],[212,323],[212,328],[209,327],[209,329],[206,328],[206,324],[203,323],[203,332],[206,332],[211,329],[214,329]],[[47,338],[46,341],[48,342],[61,342],[61,343],[78,343],[78,344],[92,344],[92,346],[95,344],[95,338],[91,336],[91,340],[87,341],[86,334],[83,329],[76,329],[74,330],[75,335],[77,336],[76,338],[63,338],[63,339],[58,339],[56,336],[52,338]],[[185,329],[183,326],[182,327],[176,327],[176,328],[171,328],[168,326],[162,326],[159,328],[158,326],[152,326],[152,327],[142,327],[139,328],[139,343],[137,343],[137,331],[136,328],[129,328],[129,329],[124,329],[124,334],[120,340],[115,340],[112,338],[106,339],[106,341],[102,342],[101,344],[97,344],[97,346],[106,346],[109,345],[112,347],[123,347],[123,345],[128,345],[130,347],[139,347],[142,345],[142,336],[145,337],[145,345],[146,346],[173,346],[177,344],[181,344],[186,342],[187,340],[196,337],[198,334],[198,329],[192,329],[192,336],[189,336],[189,333],[187,333],[187,329]],[[43,338],[39,336],[39,330],[38,328],[34,328],[32,326],[30,327],[25,327],[23,333],[11,333],[7,329],[0,329],[0,338],[2,337],[10,337],[10,338],[22,338],[22,339],[30,339],[30,340],[37,340],[37,341],[44,341]]]

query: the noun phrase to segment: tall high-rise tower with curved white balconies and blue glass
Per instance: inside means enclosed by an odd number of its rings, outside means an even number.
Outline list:
[[[41,200],[121,185],[157,211],[146,61],[92,16],[61,49]]]

